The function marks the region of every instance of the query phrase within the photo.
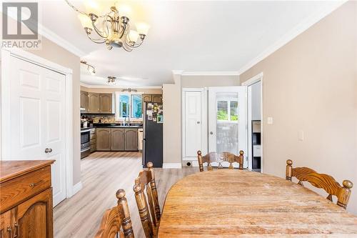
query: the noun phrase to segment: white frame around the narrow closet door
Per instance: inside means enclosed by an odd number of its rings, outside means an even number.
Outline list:
[[[198,167],[198,159],[191,159],[186,158],[185,155],[185,144],[186,144],[186,137],[185,137],[185,118],[186,118],[186,100],[185,100],[185,93],[186,91],[199,91],[201,92],[201,151],[203,154],[207,153],[207,91],[204,88],[182,88],[182,162],[192,162],[193,167]]]

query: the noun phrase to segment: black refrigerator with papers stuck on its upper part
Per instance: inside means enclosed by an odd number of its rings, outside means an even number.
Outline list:
[[[143,124],[143,167],[152,162],[161,168],[163,163],[163,122],[162,103],[144,103]]]

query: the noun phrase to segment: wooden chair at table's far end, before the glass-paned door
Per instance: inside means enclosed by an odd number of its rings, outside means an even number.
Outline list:
[[[237,162],[239,164],[238,169],[243,169],[244,152],[241,150],[238,156],[228,152],[210,152],[205,156],[202,156],[202,152],[198,150],[197,158],[200,172],[203,172],[203,163],[207,163],[208,170],[213,170],[211,165],[212,162],[218,162],[218,169],[223,169],[221,162],[229,162],[228,169],[233,169],[233,163]]]

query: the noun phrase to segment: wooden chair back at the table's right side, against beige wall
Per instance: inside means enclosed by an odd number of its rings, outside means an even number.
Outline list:
[[[314,187],[324,189],[328,193],[328,197],[326,198],[331,202],[333,202],[332,196],[336,196],[338,206],[346,209],[351,195],[351,188],[353,187],[351,181],[343,180],[342,187],[328,174],[318,174],[315,170],[307,167],[293,168],[293,162],[291,159],[288,159],[286,160],[286,179],[291,181],[292,177],[296,177],[296,179],[298,179],[298,184],[301,186],[303,186],[303,181],[307,181]]]

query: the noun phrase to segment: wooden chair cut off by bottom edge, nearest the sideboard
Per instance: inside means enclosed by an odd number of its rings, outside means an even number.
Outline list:
[[[95,238],[134,238],[124,189],[119,189],[116,192],[116,197],[118,198],[118,204],[116,207],[106,210]]]

